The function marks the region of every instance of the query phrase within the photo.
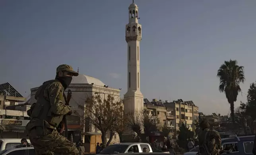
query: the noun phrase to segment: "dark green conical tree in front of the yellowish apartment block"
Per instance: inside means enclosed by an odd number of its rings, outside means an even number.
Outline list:
[[[186,145],[187,145],[187,139],[189,138],[194,138],[194,132],[191,131],[189,128],[187,128],[184,123],[182,123],[182,125],[179,128],[179,131],[177,131],[178,134],[178,146],[186,149]]]

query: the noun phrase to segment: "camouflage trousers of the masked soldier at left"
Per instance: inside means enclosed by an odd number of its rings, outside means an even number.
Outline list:
[[[55,129],[45,129],[44,136],[39,136],[41,127],[28,132],[29,140],[35,148],[36,155],[79,155],[76,146]]]

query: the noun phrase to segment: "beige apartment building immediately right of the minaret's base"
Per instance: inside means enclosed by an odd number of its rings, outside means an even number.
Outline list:
[[[144,98],[144,110],[147,111],[150,115],[155,115],[158,117],[158,123],[163,125],[167,125],[171,130],[175,130],[175,115],[174,108],[165,107],[161,100],[157,101],[153,99],[151,102]]]

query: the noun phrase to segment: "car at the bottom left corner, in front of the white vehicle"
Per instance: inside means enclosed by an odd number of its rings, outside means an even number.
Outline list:
[[[0,152],[0,155],[36,155],[34,147],[8,148]]]

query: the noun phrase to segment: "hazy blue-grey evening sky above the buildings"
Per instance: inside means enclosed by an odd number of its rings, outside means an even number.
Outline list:
[[[22,95],[80,67],[114,88],[127,87],[125,25],[132,0],[1,0],[0,83]],[[145,98],[193,100],[204,113],[229,112],[216,74],[224,60],[256,80],[255,0],[135,0],[142,24],[141,91]],[[27,92],[27,93],[25,93]],[[235,106],[246,95],[239,94]]]

